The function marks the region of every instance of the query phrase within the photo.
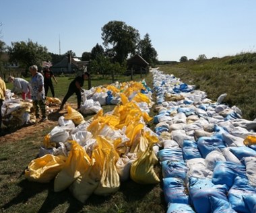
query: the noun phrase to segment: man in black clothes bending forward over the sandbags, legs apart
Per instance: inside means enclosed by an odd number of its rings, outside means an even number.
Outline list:
[[[81,100],[82,100],[82,96],[81,96],[82,87],[84,86],[84,81],[89,79],[89,77],[90,77],[90,73],[86,72],[82,76],[77,76],[75,77],[75,79],[73,79],[73,81],[71,81],[71,83],[69,84],[69,89],[67,90],[67,94],[65,95],[61,103],[61,107],[59,108],[60,110],[63,110],[64,104],[67,102],[67,99],[69,99],[69,97],[73,95],[73,93],[75,93],[77,97],[77,110],[80,109]]]

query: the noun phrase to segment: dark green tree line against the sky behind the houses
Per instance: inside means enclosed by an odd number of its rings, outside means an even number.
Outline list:
[[[90,61],[88,67],[90,72],[109,74],[114,70],[115,73],[122,73],[127,69],[127,58],[135,54],[139,54],[150,66],[156,65],[158,54],[152,46],[148,33],[141,39],[139,31],[127,26],[125,22],[110,21],[102,27],[101,36],[102,45],[96,44],[90,52],[83,52],[82,54],[81,60]],[[61,55],[54,54],[49,52],[46,46],[30,39],[22,42],[11,42],[11,46],[7,46],[3,40],[0,40],[0,54],[3,53],[8,54],[8,63],[18,63],[22,69],[28,69],[30,65],[38,65],[41,68],[43,61],[49,61],[55,65],[68,54],[75,57],[75,52],[72,50]],[[2,73],[6,69],[6,63],[5,60],[0,59],[0,71]]]

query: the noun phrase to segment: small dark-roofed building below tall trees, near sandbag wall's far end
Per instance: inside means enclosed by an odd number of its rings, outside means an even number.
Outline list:
[[[150,69],[150,64],[142,58],[139,54],[135,54],[133,57],[127,60],[127,69],[131,71],[133,69],[134,73],[145,74],[148,73]]]

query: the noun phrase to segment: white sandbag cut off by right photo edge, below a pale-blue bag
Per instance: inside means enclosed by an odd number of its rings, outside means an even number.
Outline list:
[[[256,157],[245,157],[243,159],[246,167],[246,175],[249,179],[249,183],[256,187]]]

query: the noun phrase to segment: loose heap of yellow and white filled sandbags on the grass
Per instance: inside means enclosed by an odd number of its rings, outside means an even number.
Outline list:
[[[39,157],[30,162],[25,177],[43,183],[54,180],[54,191],[69,189],[80,202],[92,194],[115,193],[129,178],[159,183],[154,172],[159,139],[146,126],[152,120],[148,115],[151,95],[145,81],[126,83],[116,95],[120,103],[113,112],[100,110],[90,120],[67,106],[67,114],[46,134]]]

